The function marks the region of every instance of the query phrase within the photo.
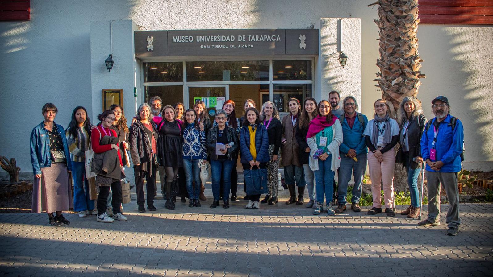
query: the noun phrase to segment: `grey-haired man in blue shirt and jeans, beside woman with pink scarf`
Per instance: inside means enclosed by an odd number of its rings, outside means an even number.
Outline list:
[[[351,173],[354,176],[351,208],[356,212],[361,211],[358,204],[361,198],[361,186],[366,171],[366,155],[368,153],[365,137],[363,137],[368,119],[365,115],[356,112],[358,110],[358,104],[352,96],[344,99],[343,108],[344,114],[339,117],[342,126],[343,141],[339,146],[341,167],[339,168],[339,187],[337,190],[337,203],[339,207],[336,208],[336,213],[342,213],[346,210],[346,195],[348,194],[348,183],[351,180]]]

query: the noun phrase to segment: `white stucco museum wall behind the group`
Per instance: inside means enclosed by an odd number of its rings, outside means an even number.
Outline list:
[[[90,22],[93,21],[133,20],[147,30],[288,29],[309,28],[320,18],[361,18],[361,110],[371,114],[373,101],[380,97],[372,81],[378,70],[375,65],[378,28],[373,22],[378,15],[375,7],[366,6],[368,3],[365,0],[32,1],[31,21],[0,22],[0,127],[3,130],[0,155],[15,157],[23,172],[31,172],[29,134],[41,122],[40,108],[46,102],[59,107],[56,121],[64,126],[68,125],[76,105],[86,106],[89,114],[99,113],[96,102],[101,92],[94,94],[91,85],[91,77],[100,78],[94,73],[91,76]],[[109,22],[102,27],[108,30]],[[424,103],[439,94],[449,97],[454,114],[466,124],[466,159],[479,162],[474,167],[483,170],[493,168],[492,128],[487,119],[492,113],[492,106],[488,105],[492,97],[492,78],[488,72],[492,68],[492,55],[488,51],[493,42],[492,31],[492,26],[443,25],[420,25],[418,31],[420,55],[425,60],[422,71],[427,76],[419,97]],[[109,32],[106,36],[105,43],[109,43]],[[103,44],[101,47],[98,55],[104,56],[103,62],[109,47]],[[122,49],[126,47],[122,45]],[[352,56],[348,56],[350,64]],[[116,68],[111,72],[104,72],[103,64],[102,68],[99,71],[102,84],[106,80],[120,83],[111,79]],[[129,81],[124,78],[122,85],[127,87]],[[130,107],[135,99],[132,96],[129,100],[126,94],[130,92],[124,89],[127,115],[134,112]],[[12,111],[19,106],[21,113]],[[429,104],[424,106],[429,115]],[[9,113],[15,114],[19,125],[12,122]]]

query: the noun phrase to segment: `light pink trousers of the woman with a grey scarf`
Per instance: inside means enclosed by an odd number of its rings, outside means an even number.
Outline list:
[[[381,186],[384,185],[384,200],[386,208],[394,207],[394,168],[395,150],[394,148],[385,152],[382,157],[384,161],[380,163],[371,151],[368,153],[368,170],[371,179],[371,192],[373,195],[373,207],[382,208]]]

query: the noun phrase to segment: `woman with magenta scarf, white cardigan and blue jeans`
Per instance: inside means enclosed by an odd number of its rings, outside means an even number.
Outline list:
[[[342,127],[332,114],[330,103],[322,100],[317,105],[318,115],[308,127],[307,143],[310,147],[309,165],[317,183],[317,207],[313,214],[323,211],[323,197],[327,202],[327,215],[335,215],[332,208],[334,174],[341,164],[339,145],[342,143]]]

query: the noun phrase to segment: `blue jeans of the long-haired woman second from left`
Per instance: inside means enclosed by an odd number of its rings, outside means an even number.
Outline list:
[[[94,200],[89,199],[89,181],[84,162],[72,161],[73,210],[93,210]],[[85,189],[85,192],[84,192]]]

